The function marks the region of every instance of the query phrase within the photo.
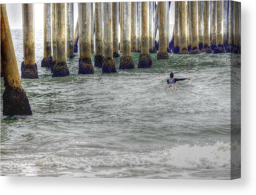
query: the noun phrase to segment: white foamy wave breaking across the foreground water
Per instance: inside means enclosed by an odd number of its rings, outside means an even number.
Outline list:
[[[93,157],[48,156],[36,164],[43,167],[66,167],[73,169],[90,169],[92,167],[123,166],[165,166],[185,169],[230,168],[230,151],[232,155],[240,154],[241,146],[237,143],[217,142],[214,145],[178,145],[171,149],[149,153],[110,152],[108,155]],[[239,155],[238,155],[239,156]],[[239,168],[241,159],[232,159],[232,166]]]

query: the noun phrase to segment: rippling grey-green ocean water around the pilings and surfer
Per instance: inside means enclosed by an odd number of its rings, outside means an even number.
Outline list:
[[[12,38],[20,69],[22,30]],[[52,78],[40,66],[43,31],[35,38],[39,79],[22,79],[33,116],[2,115],[1,78],[1,175],[230,179],[230,154],[240,154],[230,144],[230,59],[239,66],[240,55],[151,54],[152,68],[138,69],[132,53],[133,70],[116,58],[115,74],[78,75],[76,54],[70,76]],[[174,91],[171,71],[191,81]]]

